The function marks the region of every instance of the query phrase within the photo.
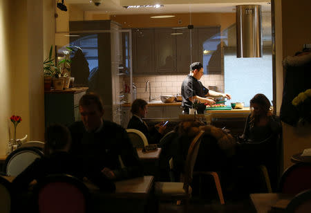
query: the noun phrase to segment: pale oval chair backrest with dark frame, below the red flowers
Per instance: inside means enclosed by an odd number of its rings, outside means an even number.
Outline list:
[[[26,169],[36,158],[41,158],[43,152],[34,147],[23,147],[12,151],[6,158],[4,168],[7,176],[17,176]]]

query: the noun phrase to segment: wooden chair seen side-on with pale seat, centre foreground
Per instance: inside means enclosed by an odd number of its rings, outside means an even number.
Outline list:
[[[187,154],[185,174],[182,177],[183,183],[156,182],[155,185],[156,196],[158,196],[160,200],[185,200],[185,212],[187,212],[189,205],[189,198],[191,196],[190,183],[192,181],[194,164],[196,163],[196,156],[198,155],[198,149],[200,147],[200,141],[203,133],[204,131],[200,131],[191,142]]]

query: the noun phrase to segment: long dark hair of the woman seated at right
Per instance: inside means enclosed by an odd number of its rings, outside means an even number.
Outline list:
[[[267,99],[267,97],[261,93],[258,93],[252,98],[252,100],[249,101],[250,107],[253,106],[253,104],[258,104],[258,107],[263,111],[263,114],[261,115],[255,115],[254,111],[252,111],[250,116],[250,127],[254,127],[255,124],[257,124],[261,118],[262,115],[267,115],[267,113],[270,111],[270,100]]]

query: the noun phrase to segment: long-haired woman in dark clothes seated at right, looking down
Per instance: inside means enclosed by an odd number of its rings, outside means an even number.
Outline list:
[[[265,165],[270,176],[272,189],[275,189],[278,183],[279,162],[281,160],[279,145],[281,122],[279,117],[270,111],[271,104],[265,95],[258,93],[249,103],[252,113],[247,117],[244,133],[241,136],[243,142],[238,146],[236,159],[241,165],[249,166],[247,167],[248,170],[245,170],[248,171],[247,175],[249,176],[254,173],[249,172],[249,169],[254,169],[258,165]],[[248,179],[254,180],[254,177],[250,176]],[[253,182],[252,185],[256,185]]]

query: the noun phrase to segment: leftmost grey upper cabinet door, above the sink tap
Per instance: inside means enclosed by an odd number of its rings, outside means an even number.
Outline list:
[[[133,73],[154,73],[154,29],[133,29]]]

